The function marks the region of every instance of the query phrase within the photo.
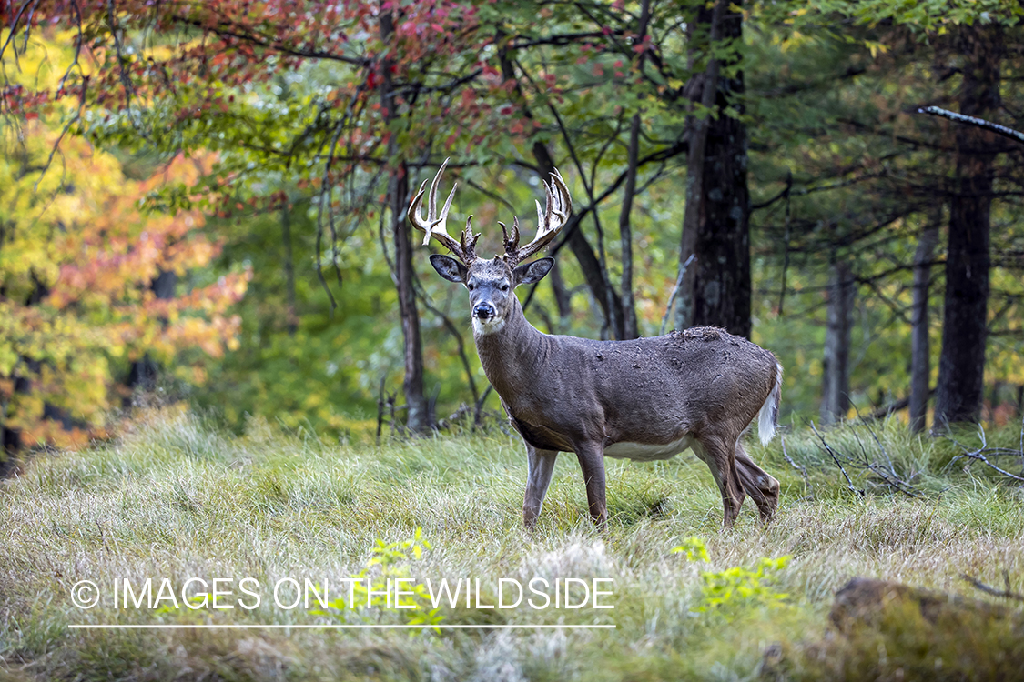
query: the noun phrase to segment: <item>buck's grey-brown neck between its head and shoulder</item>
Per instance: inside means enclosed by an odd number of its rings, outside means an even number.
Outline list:
[[[550,339],[526,321],[518,299],[513,297],[512,310],[500,329],[486,334],[474,329],[473,340],[487,380],[506,402],[518,394],[523,380],[543,376]]]

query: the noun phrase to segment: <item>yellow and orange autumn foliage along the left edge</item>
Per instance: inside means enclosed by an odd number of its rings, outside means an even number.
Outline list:
[[[39,47],[41,61],[44,52],[67,56],[52,43]],[[25,61],[20,74],[56,78]],[[208,173],[209,154],[179,154],[134,180],[114,155],[61,135],[47,117],[4,126],[0,143],[0,427],[8,447],[10,434],[19,445],[101,434],[143,356],[169,363],[196,347],[219,357],[237,344],[240,320],[228,308],[245,293],[248,272],[170,299],[152,286],[161,273],[184,279],[219,252],[202,213],[143,210],[151,192]],[[203,378],[199,367],[177,371]]]

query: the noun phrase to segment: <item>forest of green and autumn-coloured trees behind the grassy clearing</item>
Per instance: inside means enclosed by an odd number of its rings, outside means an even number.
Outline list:
[[[1024,144],[920,111],[1024,129],[1017,2],[0,11],[4,462],[155,392],[356,441],[497,414],[406,219],[445,158],[482,253],[568,181],[545,331],[749,335],[784,422],[1024,411]]]

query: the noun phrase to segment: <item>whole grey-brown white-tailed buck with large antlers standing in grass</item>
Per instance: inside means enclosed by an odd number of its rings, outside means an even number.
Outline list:
[[[556,171],[547,206],[537,202],[537,237],[519,245],[519,222],[502,226],[505,254],[476,257],[479,234],[466,220],[456,241],[444,223],[455,187],[438,213],[437,185],[430,185],[427,218],[421,206],[426,182],[413,198],[409,219],[455,258],[434,254],[430,263],[444,279],[469,289],[473,338],[483,371],[501,397],[512,425],[526,444],[528,473],[523,519],[532,527],[551,483],[555,457],[574,452],[587,485],[590,515],[604,526],[604,457],[668,459],[687,448],[711,468],[722,492],[725,525],[732,526],[744,495],[768,520],[778,506],[778,482],[743,451],[740,435],[760,411],[761,441],[775,433],[782,367],[768,351],[714,327],[665,336],[600,342],[556,336],[534,328],[513,293],[540,281],[554,259],[522,263],[544,248],[572,211],[568,188]]]

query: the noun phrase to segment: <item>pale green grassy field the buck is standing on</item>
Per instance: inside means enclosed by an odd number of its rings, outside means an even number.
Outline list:
[[[723,531],[717,488],[687,453],[658,463],[609,460],[609,528],[597,533],[575,459],[563,455],[539,527],[527,533],[525,457],[500,430],[375,448],[259,420],[232,437],[188,413],[155,412],[115,443],[38,455],[20,478],[0,484],[0,678],[896,680],[984,679],[994,670],[1020,679],[1013,674],[1024,675],[1014,668],[1024,662],[1020,631],[979,636],[950,655],[916,636],[846,640],[828,632],[828,610],[854,576],[984,597],[961,579],[969,574],[1024,591],[1021,489],[979,463],[952,461],[953,443],[911,437],[895,421],[822,435],[850,457],[849,484],[810,430],[785,436],[786,454],[806,475],[783,458],[779,439],[767,448],[752,442],[752,456],[782,483],[767,527],[746,501],[735,529]],[[989,434],[988,443],[1018,448],[1019,438],[1008,429]],[[977,443],[971,433],[959,440]],[[857,466],[865,456],[908,481],[916,497]],[[378,541],[416,543],[417,529],[429,543],[422,555],[410,544],[374,550]],[[680,545],[695,548],[692,559],[673,551]],[[750,590],[712,591],[730,577],[742,584],[745,570],[780,556],[792,559]],[[283,578],[323,586],[364,571],[408,574],[414,583],[479,578],[485,603],[495,603],[499,578],[523,585],[532,577],[611,578],[613,595],[604,599],[613,609],[461,605],[437,617],[444,625],[616,628],[69,628],[393,625],[422,617],[421,609],[286,609],[266,590]],[[150,609],[117,608],[110,595],[124,579],[167,578],[177,589],[193,577],[252,577],[263,599],[252,609],[174,608],[166,600]],[[82,580],[100,588],[94,608],[72,602]],[[232,585],[225,602],[238,604]],[[713,605],[714,594],[723,603]],[[763,670],[766,650],[771,670]]]

